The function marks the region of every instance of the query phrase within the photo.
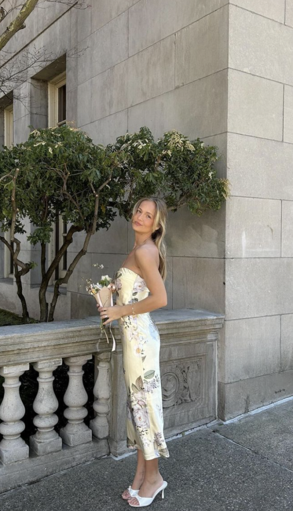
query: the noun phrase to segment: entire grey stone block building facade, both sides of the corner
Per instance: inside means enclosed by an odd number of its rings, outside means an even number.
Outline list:
[[[62,122],[56,101],[66,85],[66,119],[95,143],[148,126],[155,137],[176,128],[216,145],[218,175],[230,180],[232,195],[220,211],[201,218],[184,209],[169,215],[167,308],[225,314],[219,417],[291,396],[293,0],[93,0],[85,10],[43,7],[6,48],[19,54],[36,45],[56,55],[52,64],[29,71],[21,89],[30,107],[13,102],[13,142],[26,140],[30,125]],[[9,112],[6,120],[2,115],[0,136],[9,119]],[[67,264],[82,240],[76,235]],[[96,278],[96,262],[113,273],[132,244],[131,226],[119,218],[95,235],[59,297],[56,320],[95,314],[83,278]],[[1,246],[0,307],[20,312],[4,252]],[[38,261],[39,248],[24,243],[23,254]],[[26,277],[25,295],[37,316],[39,269]]]

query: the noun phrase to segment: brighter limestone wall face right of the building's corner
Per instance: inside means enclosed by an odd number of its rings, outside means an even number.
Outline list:
[[[293,2],[229,8],[219,416],[293,393]]]

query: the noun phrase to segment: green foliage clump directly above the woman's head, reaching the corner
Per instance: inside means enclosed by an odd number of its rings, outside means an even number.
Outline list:
[[[120,167],[127,178],[127,195],[119,201],[125,216],[142,196],[160,195],[169,209],[176,211],[185,204],[199,216],[207,208],[218,210],[229,196],[228,180],[216,177],[217,147],[205,146],[199,138],[190,142],[170,130],[155,143],[151,131],[143,127],[118,137],[108,148],[126,154]]]

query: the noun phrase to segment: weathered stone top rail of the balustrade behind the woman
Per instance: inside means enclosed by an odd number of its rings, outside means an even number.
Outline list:
[[[170,340],[178,342],[178,335],[180,340],[194,342],[195,333],[197,333],[197,342],[215,340],[217,330],[222,328],[224,323],[222,314],[202,309],[161,309],[153,312],[152,317],[160,331],[162,345]],[[120,351],[120,333],[116,321],[113,322],[112,330],[117,341],[117,350]],[[97,351],[97,342],[100,339],[99,351],[109,351],[110,345],[107,344],[105,335],[101,335],[100,316],[2,327],[0,366],[92,354]]]

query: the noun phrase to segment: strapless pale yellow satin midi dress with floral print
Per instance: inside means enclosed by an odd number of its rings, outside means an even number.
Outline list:
[[[129,268],[115,275],[116,304],[146,298],[143,278]],[[127,446],[141,449],[144,459],[168,457],[163,434],[160,379],[160,334],[150,313],[118,319],[123,346],[123,372],[127,389]]]

